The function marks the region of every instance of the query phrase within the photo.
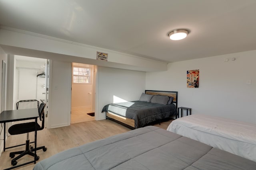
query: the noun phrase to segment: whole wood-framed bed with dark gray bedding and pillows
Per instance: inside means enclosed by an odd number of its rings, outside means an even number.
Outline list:
[[[177,117],[178,92],[145,90],[139,101],[108,104],[106,119],[136,129],[165,118]]]

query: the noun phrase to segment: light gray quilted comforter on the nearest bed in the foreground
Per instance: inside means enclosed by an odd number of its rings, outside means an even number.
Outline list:
[[[34,170],[255,170],[256,162],[147,126],[75,147]]]

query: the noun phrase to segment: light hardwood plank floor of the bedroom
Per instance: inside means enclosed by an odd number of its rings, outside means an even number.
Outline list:
[[[162,122],[161,125],[157,123],[154,126],[167,129],[172,120],[173,119]],[[66,127],[44,129],[42,131],[38,131],[37,146],[40,147],[44,145],[47,147],[46,152],[43,150],[36,151],[37,155],[40,156],[38,162],[63,150],[124,133],[130,130],[131,129],[128,129],[127,127],[124,127],[114,121],[100,120],[86,121],[82,123],[75,123]],[[30,133],[30,139],[32,140],[33,138],[34,133]],[[13,135],[8,137],[6,141],[6,147],[25,143],[25,141],[26,134]],[[7,149],[5,152],[2,152],[2,155],[0,156],[0,170],[12,166],[10,163],[12,158],[9,157],[10,152],[24,149],[25,146],[20,146]],[[22,164],[31,160],[33,160],[33,157],[26,155],[18,160],[18,164]],[[16,168],[16,170],[32,170],[33,167],[34,164],[28,164],[26,166]]]

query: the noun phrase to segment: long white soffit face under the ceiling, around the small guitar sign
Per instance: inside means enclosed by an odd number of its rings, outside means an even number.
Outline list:
[[[47,57],[47,59],[62,61],[70,60],[72,57],[76,61],[73,60],[71,62],[139,71],[162,71],[167,68],[166,62],[128,55],[24,30],[0,28],[0,37],[0,46],[9,54]],[[108,62],[96,60],[97,51],[108,53]]]

